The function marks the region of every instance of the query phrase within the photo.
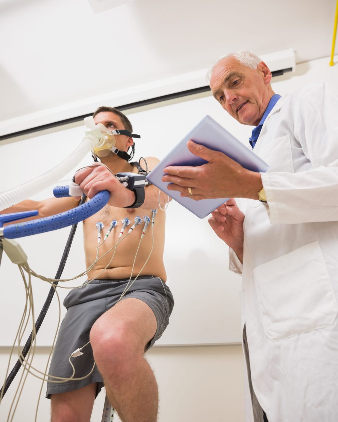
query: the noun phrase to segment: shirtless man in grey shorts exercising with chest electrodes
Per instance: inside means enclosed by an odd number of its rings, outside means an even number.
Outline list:
[[[102,123],[109,130],[122,129],[132,132],[131,123],[120,111],[100,107],[95,111],[95,123]],[[115,135],[115,147],[128,151],[134,144],[131,136]],[[106,151],[108,152],[108,151]],[[148,170],[158,160],[146,159]],[[109,152],[101,158],[114,174],[138,173],[137,163]],[[133,165],[134,164],[134,165]],[[128,217],[131,225],[134,218],[151,217],[151,209],[158,208],[158,189],[145,187],[145,200],[141,208],[125,208],[135,203],[135,193],[117,181],[103,165],[84,168],[76,173],[75,181],[91,198],[107,189],[111,192],[108,204],[98,213],[83,221],[85,258],[87,268],[95,261],[98,244],[97,222],[104,223],[104,233],[113,219],[118,226],[100,247],[100,256],[114,246],[119,238],[122,219]],[[66,211],[78,205],[78,198],[51,198],[44,201],[25,200],[3,212],[18,212],[37,209],[41,218]],[[24,221],[24,220],[22,220]],[[72,358],[75,378],[90,373],[94,360],[94,372],[81,381],[48,383],[46,397],[52,399],[52,422],[89,422],[94,400],[105,385],[110,403],[123,422],[155,422],[158,413],[158,388],[155,376],[144,359],[144,351],[153,346],[168,325],[173,307],[172,294],[166,286],[166,271],[163,263],[165,213],[158,211],[155,218],[155,247],[147,264],[141,271],[153,245],[151,228],[147,229],[137,254],[132,276],[140,276],[117,303],[129,277],[139,245],[144,223],[137,225],[128,238],[117,246],[114,259],[109,252],[99,260],[87,274],[93,279],[80,289],[73,289],[65,298],[66,316],[60,327],[49,374],[70,377],[72,373],[68,358],[72,352],[86,346],[82,356]],[[126,227],[125,233],[131,227]],[[125,235],[125,234],[124,234]],[[97,277],[97,278],[95,278]],[[133,280],[133,279],[132,279]]]

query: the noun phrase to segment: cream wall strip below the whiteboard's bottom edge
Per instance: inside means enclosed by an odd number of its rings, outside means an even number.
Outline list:
[[[8,350],[0,352],[0,367],[7,365]],[[159,422],[243,422],[243,357],[241,346],[158,347],[147,352],[159,392]],[[35,363],[46,364],[46,350],[39,349]],[[5,421],[19,376],[0,406]],[[30,377],[14,421],[34,420],[41,381]],[[43,392],[45,386],[43,388]],[[95,400],[91,422],[101,422],[105,391]],[[38,422],[47,422],[50,401],[41,399]],[[120,419],[115,416],[114,422]],[[68,421],[65,421],[68,422]],[[70,422],[70,421],[69,421]]]

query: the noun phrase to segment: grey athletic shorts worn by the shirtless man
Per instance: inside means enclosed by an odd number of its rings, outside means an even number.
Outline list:
[[[68,361],[69,356],[89,341],[90,329],[94,322],[117,303],[128,280],[95,279],[68,293],[63,302],[67,313],[57,336],[49,368],[50,375],[64,378],[71,376],[73,369]],[[155,314],[157,330],[153,339],[147,344],[146,351],[161,337],[169,323],[169,316],[174,306],[172,293],[159,277],[139,276],[121,300],[127,298],[143,300]],[[75,367],[75,378],[81,378],[90,373],[94,365],[90,344],[82,352],[84,352],[82,356],[71,358]],[[67,381],[58,384],[48,382],[46,398],[51,398],[51,395],[55,393],[78,390],[94,382],[97,383],[96,395],[98,395],[104,383],[96,366],[94,372],[81,381]]]

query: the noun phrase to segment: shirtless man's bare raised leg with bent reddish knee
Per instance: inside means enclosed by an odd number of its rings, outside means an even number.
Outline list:
[[[128,298],[106,311],[90,331],[95,362],[110,403],[123,422],[156,422],[158,388],[144,359],[144,347],[157,328],[142,300]]]

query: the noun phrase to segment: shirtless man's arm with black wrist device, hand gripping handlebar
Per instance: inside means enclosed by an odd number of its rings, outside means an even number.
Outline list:
[[[148,170],[152,170],[159,160],[155,157],[147,157]],[[121,184],[120,181],[104,166],[98,163],[91,167],[79,170],[75,175],[75,183],[79,184],[88,198],[92,198],[101,190],[110,192],[108,204],[117,208],[128,208],[135,202],[135,193]],[[158,191],[154,185],[144,188],[144,203],[141,208],[158,208]],[[163,200],[165,197],[165,200]],[[161,195],[161,206],[165,205],[167,195]],[[169,198],[171,200],[171,198]]]

